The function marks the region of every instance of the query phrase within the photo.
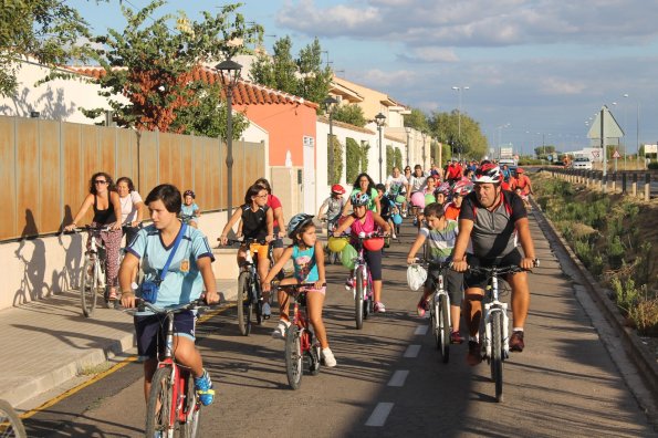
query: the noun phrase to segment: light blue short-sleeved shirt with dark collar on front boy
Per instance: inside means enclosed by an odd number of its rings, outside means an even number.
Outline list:
[[[142,260],[144,280],[154,281],[167,263],[173,248],[174,242],[168,248],[163,244],[159,231],[150,225],[139,230],[127,251]],[[203,279],[197,260],[202,257],[215,261],[208,239],[198,229],[186,227],[165,280],[160,283],[155,305],[166,307],[186,304],[201,296]]]

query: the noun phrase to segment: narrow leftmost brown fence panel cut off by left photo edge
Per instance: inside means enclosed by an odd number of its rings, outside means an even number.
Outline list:
[[[0,185],[9,195],[0,210],[0,239],[18,232],[14,124],[13,117],[0,117]]]

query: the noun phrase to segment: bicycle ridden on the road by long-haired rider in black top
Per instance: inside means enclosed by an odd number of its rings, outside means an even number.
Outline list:
[[[238,327],[243,336],[251,333],[251,316],[255,313],[255,323],[260,325],[263,320],[263,296],[261,291],[261,278],[258,273],[258,258],[254,260],[251,253],[251,243],[268,246],[268,259],[272,260],[272,246],[264,240],[258,239],[229,239],[228,244],[240,243],[247,252],[244,262],[240,267],[238,277]],[[270,295],[270,305],[272,304]]]

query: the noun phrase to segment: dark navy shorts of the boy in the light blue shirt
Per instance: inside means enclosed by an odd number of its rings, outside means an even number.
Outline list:
[[[165,332],[167,319],[164,315],[136,315],[135,332],[137,334],[137,355],[140,359],[154,358],[156,353],[165,351]],[[174,315],[174,333],[195,341],[197,313],[185,311]]]

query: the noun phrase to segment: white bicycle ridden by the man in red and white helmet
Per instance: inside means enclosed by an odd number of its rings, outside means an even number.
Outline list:
[[[495,400],[503,401],[503,362],[510,357],[510,336],[508,303],[499,300],[499,277],[524,272],[518,265],[509,267],[469,267],[473,273],[484,274],[489,284],[482,300],[480,319],[480,343],[482,357],[491,366],[491,379],[495,383]]]

